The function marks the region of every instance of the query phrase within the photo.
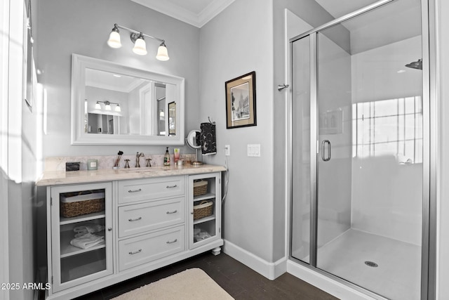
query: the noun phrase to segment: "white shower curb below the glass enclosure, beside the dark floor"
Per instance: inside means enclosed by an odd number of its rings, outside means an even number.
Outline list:
[[[328,278],[326,275],[311,270],[300,263],[287,261],[287,272],[291,275],[310,283],[314,287],[318,287],[324,292],[336,296],[338,299],[344,300],[374,300],[375,298],[358,292],[347,285]]]

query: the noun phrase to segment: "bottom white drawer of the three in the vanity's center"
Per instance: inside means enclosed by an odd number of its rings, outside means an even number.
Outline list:
[[[119,241],[119,270],[184,251],[184,230],[184,226],[179,226]]]

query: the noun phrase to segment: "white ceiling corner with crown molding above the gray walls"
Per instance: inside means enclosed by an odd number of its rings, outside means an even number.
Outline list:
[[[234,2],[234,0],[131,1],[200,28]]]

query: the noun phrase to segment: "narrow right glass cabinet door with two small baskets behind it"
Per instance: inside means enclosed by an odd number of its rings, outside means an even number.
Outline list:
[[[221,174],[189,176],[189,248],[220,238]]]

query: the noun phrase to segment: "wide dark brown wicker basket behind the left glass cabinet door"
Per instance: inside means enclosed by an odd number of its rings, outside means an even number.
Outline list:
[[[60,214],[65,218],[105,210],[105,193],[61,196]]]

